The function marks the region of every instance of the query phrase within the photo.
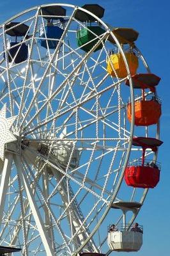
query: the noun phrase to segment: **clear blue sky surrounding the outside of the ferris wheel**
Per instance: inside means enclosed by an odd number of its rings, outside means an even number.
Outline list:
[[[31,6],[45,3],[57,2],[52,0],[1,0],[0,23]],[[79,6],[85,3],[98,3],[105,8],[105,22],[114,27],[134,28],[139,31],[136,44],[143,52],[151,71],[162,78],[158,86],[158,95],[162,98],[160,139],[164,141],[158,154],[158,161],[162,163],[161,179],[157,188],[150,189],[137,218],[139,223],[144,225],[144,244],[140,252],[132,253],[132,255],[169,255],[170,2],[167,0],[60,0],[59,3]]]

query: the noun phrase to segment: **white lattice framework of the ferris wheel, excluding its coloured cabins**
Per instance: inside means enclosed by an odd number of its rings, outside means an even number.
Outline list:
[[[88,10],[62,4],[65,15],[43,15],[44,8],[60,5],[31,8],[0,26],[0,244],[19,246],[24,256],[102,252],[112,202],[142,204],[147,193],[123,182],[130,150],[139,152],[131,148],[134,92],[123,48]],[[75,19],[77,10],[104,29],[102,35],[95,34],[88,52],[77,45],[77,27],[86,28]],[[47,37],[48,17],[63,31],[60,38]],[[19,28],[25,31],[22,40],[7,47],[12,31]],[[50,42],[57,42],[55,49]],[[27,56],[19,61],[21,47]],[[122,54],[127,77],[108,74],[105,60],[112,47]],[[134,51],[149,71],[141,52]],[[121,218],[115,215],[115,223]]]

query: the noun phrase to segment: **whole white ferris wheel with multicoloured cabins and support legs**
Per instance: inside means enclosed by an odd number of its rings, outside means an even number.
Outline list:
[[[139,250],[130,225],[159,180],[160,78],[137,31],[82,7],[36,6],[0,26],[0,247],[25,256]],[[111,221],[135,245],[115,247]]]

